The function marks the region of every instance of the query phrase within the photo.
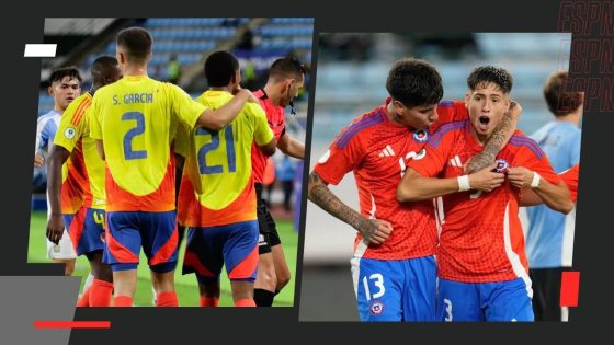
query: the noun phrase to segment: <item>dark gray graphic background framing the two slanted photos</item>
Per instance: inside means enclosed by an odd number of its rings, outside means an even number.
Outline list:
[[[557,30],[557,1],[128,1],[45,2],[20,1],[5,10],[0,23],[4,43],[2,54],[3,169],[0,191],[3,206],[0,274],[13,276],[61,275],[61,267],[26,264],[30,191],[37,112],[41,62],[23,58],[24,44],[41,43],[46,16],[315,16],[316,32],[553,32]],[[596,27],[593,28],[596,35]],[[609,37],[610,39],[612,37]],[[573,46],[572,46],[573,49]],[[317,55],[314,55],[314,60]],[[612,64],[612,62],[611,62]],[[315,70],[315,68],[314,68]],[[572,76],[573,77],[573,76]],[[588,77],[588,76],[583,76]],[[591,72],[594,78],[612,76]],[[316,77],[317,78],[317,77]],[[311,85],[316,83],[312,82]],[[311,92],[317,96],[317,92]],[[311,101],[312,102],[311,97]],[[70,344],[168,344],[187,342],[228,342],[287,344],[332,342],[351,343],[434,342],[578,343],[607,337],[613,300],[607,284],[609,253],[613,243],[610,196],[614,195],[611,176],[609,135],[613,114],[596,108],[584,113],[582,169],[575,240],[575,267],[581,272],[580,307],[573,322],[542,324],[357,324],[298,322],[298,308],[236,310],[230,308],[79,309],[76,320],[110,320],[111,330],[72,331]],[[317,114],[315,115],[317,116]],[[310,123],[309,123],[310,124]],[[308,128],[309,130],[310,128]],[[315,129],[317,130],[317,128]],[[309,137],[309,131],[307,137]],[[309,143],[309,139],[307,140]],[[601,153],[598,154],[596,152]],[[309,162],[306,162],[309,166]],[[308,172],[306,172],[307,175]],[[305,194],[303,194],[305,196]],[[303,209],[305,209],[305,200]],[[300,242],[303,237],[300,238]],[[302,252],[299,251],[299,256]],[[300,267],[300,266],[299,266]],[[307,277],[304,277],[306,279]],[[300,274],[297,274],[297,302]],[[23,301],[24,309],[44,308],[30,303],[27,294],[0,288]],[[49,299],[55,291],[39,287]],[[308,301],[303,301],[308,303]],[[302,304],[303,304],[302,303]],[[299,306],[298,306],[299,307]],[[334,310],[336,306],[329,306]],[[2,320],[11,310],[0,306]],[[2,321],[4,322],[4,321]],[[45,332],[35,331],[32,332]],[[47,331],[50,332],[50,331]],[[3,336],[4,334],[0,334]],[[20,344],[20,338],[1,338],[2,344]]]

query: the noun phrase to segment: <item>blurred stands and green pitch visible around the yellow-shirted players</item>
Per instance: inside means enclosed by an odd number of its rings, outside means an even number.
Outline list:
[[[128,26],[141,26],[154,36],[154,53],[148,73],[151,78],[170,81],[169,67],[173,59],[179,62],[181,73],[174,81],[193,97],[208,88],[203,72],[203,64],[211,51],[230,50],[240,60],[242,87],[258,90],[264,87],[271,64],[283,56],[294,55],[307,67],[311,64],[311,44],[314,33],[312,18],[151,18],[151,19],[46,19],[44,43],[57,44],[55,58],[43,59],[41,69],[41,91],[38,114],[47,113],[54,107],[54,101],[47,92],[47,79],[59,67],[76,66],[82,77],[82,92],[91,87],[89,68],[101,55],[115,56],[115,34]],[[309,76],[306,87],[295,100],[296,115],[287,116],[287,129],[291,136],[304,141],[307,119],[307,101]],[[288,112],[289,114],[289,112]],[[296,243],[298,235],[299,192],[303,164],[294,159],[284,159],[278,152],[274,157],[277,179],[273,182],[269,202],[272,214],[280,220],[281,235],[286,258],[293,274],[296,266]],[[294,192],[289,208],[284,207],[282,181],[294,181]],[[48,262],[45,257],[45,209],[46,209],[46,171],[34,171],[31,242],[29,262]],[[180,252],[180,256],[181,256]],[[141,263],[143,263],[141,257]],[[89,265],[86,260],[77,262],[76,275],[87,276]],[[293,275],[295,277],[295,275]],[[195,278],[177,276],[178,290],[189,290],[190,297],[183,298],[180,291],[180,304],[197,306]],[[151,306],[151,291],[148,288],[149,275],[146,265],[139,265],[139,287],[135,303]],[[221,304],[231,304],[229,285],[223,286]],[[192,296],[193,295],[193,296]],[[226,302],[224,301],[226,296]],[[294,278],[276,299],[276,306],[294,303]]]

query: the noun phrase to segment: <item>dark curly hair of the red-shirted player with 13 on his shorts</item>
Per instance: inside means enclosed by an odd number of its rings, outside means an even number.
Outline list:
[[[393,65],[386,90],[407,107],[437,104],[443,97],[442,79],[435,67],[416,58],[403,58]]]

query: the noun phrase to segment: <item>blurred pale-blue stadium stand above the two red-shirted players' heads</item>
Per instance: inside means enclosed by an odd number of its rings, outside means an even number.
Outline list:
[[[348,43],[349,39],[321,38],[326,44],[320,44],[319,50],[316,111],[327,112],[330,108],[339,114],[355,115],[355,112],[348,112],[348,110],[361,108],[361,104],[368,107],[380,103],[387,96],[383,85],[391,64],[389,59],[414,55],[430,60],[437,67],[444,82],[444,99],[464,97],[467,74],[476,66],[496,64],[507,68],[514,77],[512,95],[523,105],[520,127],[526,133],[533,133],[549,120],[549,114],[544,111],[543,104],[544,80],[556,69],[567,69],[567,62],[562,61],[568,61],[571,39],[569,34],[561,33],[473,34],[477,51],[467,49],[451,58],[445,46],[448,42],[442,42],[439,46],[430,43],[425,48],[422,45],[423,41],[416,36],[396,35],[396,38],[395,45],[401,46],[403,53],[389,54],[388,59],[382,59],[378,58],[378,54],[382,55],[379,50],[383,47],[378,45],[382,45],[379,42],[385,39],[354,36],[353,45],[366,46],[363,42],[375,43],[367,46],[369,50],[365,53],[366,61],[361,61],[360,65],[354,64],[352,55],[340,55],[337,49],[336,44],[339,44],[346,50],[353,51],[352,45]],[[322,64],[323,61],[327,62]],[[315,126],[318,126],[317,122],[323,118],[323,116],[316,117]],[[334,118],[340,123],[350,119],[344,116]],[[318,134],[326,135],[322,131]]]

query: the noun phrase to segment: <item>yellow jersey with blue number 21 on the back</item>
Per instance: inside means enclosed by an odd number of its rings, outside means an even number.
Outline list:
[[[218,108],[231,99],[225,91],[206,91],[196,101]],[[182,131],[186,131],[183,126]],[[175,149],[185,157],[187,177],[180,192],[180,207],[186,207],[182,212],[185,225],[211,227],[257,219],[251,146],[272,139],[266,114],[254,103],[247,103],[219,131],[194,128],[178,135]]]

